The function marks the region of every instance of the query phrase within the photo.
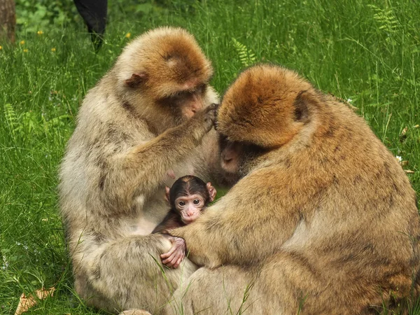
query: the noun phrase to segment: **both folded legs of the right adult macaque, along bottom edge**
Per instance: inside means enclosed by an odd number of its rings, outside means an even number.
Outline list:
[[[370,302],[380,302],[363,279],[328,276],[295,253],[278,253],[258,269],[203,267],[175,291],[163,314],[361,315],[370,314]]]

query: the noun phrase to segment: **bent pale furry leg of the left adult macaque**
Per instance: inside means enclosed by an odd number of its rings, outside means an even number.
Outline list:
[[[197,269],[188,259],[177,269],[162,265],[160,254],[171,246],[161,235],[127,237],[91,247],[81,242],[73,256],[76,292],[88,305],[108,311],[144,309],[160,314],[174,290]]]

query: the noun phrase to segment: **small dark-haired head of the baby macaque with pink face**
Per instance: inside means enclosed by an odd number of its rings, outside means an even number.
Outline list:
[[[204,183],[196,176],[183,176],[175,181],[172,188],[166,187],[167,201],[180,214],[181,221],[185,224],[197,220],[215,197],[216,189],[211,183]]]

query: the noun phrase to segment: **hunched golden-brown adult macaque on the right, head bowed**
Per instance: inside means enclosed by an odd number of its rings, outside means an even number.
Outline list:
[[[203,266],[165,314],[372,314],[419,295],[407,176],[348,106],[279,66],[253,66],[218,109],[235,186],[171,231]]]

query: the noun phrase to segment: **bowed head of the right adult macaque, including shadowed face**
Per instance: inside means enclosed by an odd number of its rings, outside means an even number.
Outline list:
[[[218,109],[221,167],[235,183],[309,123],[316,90],[296,73],[261,64],[242,72]]]

